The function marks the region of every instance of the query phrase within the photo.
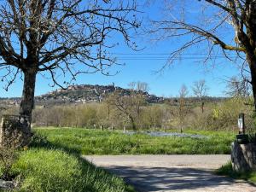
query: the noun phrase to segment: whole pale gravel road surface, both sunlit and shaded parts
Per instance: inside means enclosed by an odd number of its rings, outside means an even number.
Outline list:
[[[138,192],[256,192],[253,184],[212,174],[230,160],[230,155],[96,155],[84,158],[124,177]]]

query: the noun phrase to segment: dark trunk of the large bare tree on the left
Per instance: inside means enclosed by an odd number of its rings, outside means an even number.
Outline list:
[[[26,116],[29,122],[32,119],[32,109],[34,108],[34,95],[37,72],[25,71],[23,92],[20,102],[20,116]]]

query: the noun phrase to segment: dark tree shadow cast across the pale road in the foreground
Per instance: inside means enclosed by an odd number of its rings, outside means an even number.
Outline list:
[[[107,169],[124,177],[125,181],[133,185],[138,192],[196,189],[200,191],[220,189],[221,191],[237,183],[230,177],[220,177],[213,175],[210,171],[187,167],[110,166]],[[239,182],[239,184],[242,183],[245,182]],[[253,184],[246,184],[252,189],[255,187]]]

